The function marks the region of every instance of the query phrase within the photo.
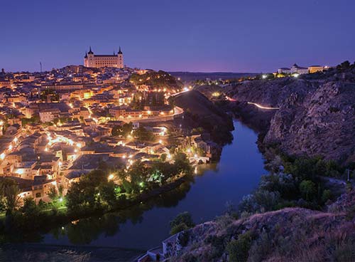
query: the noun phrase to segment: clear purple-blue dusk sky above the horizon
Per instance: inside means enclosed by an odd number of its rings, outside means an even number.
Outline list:
[[[271,72],[355,61],[354,0],[4,0],[0,68],[82,64],[89,46],[155,70]]]

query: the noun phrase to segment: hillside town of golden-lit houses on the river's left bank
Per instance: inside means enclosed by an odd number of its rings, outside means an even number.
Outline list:
[[[1,179],[13,179],[21,199],[38,203],[50,201],[53,188],[65,195],[102,163],[129,169],[133,162],[172,162],[176,150],[192,164],[209,162],[214,143],[202,132],[191,135],[179,123],[184,110],[169,104],[170,97],[186,90],[163,71],[121,66],[36,73],[3,69]]]

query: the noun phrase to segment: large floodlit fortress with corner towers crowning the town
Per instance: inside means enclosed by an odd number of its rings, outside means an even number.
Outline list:
[[[124,67],[124,54],[119,48],[119,52],[113,55],[95,55],[92,52],[91,46],[88,53],[84,56],[84,66],[88,68],[123,68]]]

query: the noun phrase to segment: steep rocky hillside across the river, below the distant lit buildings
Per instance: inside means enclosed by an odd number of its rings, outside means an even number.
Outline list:
[[[355,81],[284,78],[255,80],[227,88],[240,103],[278,107],[266,127],[264,144],[275,143],[288,154],[321,155],[355,161]],[[253,110],[257,110],[254,108]],[[267,110],[258,109],[261,115]]]

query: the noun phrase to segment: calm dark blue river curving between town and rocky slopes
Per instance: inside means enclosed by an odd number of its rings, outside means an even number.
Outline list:
[[[234,140],[223,148],[218,164],[198,170],[192,184],[152,199],[119,214],[81,219],[46,234],[42,243],[85,245],[146,250],[169,236],[169,221],[189,211],[196,224],[213,219],[225,210],[226,201],[235,205],[258,185],[263,157],[256,146],[257,135],[234,122]]]

